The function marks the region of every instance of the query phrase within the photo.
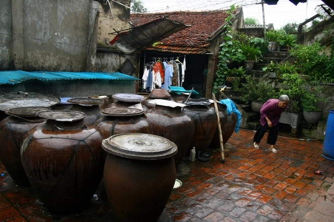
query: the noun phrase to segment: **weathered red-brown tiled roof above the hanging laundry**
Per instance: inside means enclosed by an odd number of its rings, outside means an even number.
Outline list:
[[[159,50],[186,54],[204,53],[209,44],[207,38],[216,32],[224,23],[227,11],[203,11],[203,12],[166,12],[166,13],[135,13],[130,15],[130,22],[139,26],[162,16],[191,25],[191,27],[178,31],[169,37],[159,41],[154,47],[146,47],[147,50]]]

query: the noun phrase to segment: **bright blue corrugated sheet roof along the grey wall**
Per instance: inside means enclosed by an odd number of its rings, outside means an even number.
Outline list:
[[[75,79],[104,79],[104,80],[139,80],[123,73],[107,72],[25,72],[0,71],[0,84],[17,84],[29,79],[37,80],[75,80]]]

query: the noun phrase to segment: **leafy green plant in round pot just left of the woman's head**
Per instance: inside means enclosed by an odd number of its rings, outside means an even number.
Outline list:
[[[260,108],[268,99],[277,98],[278,94],[268,84],[264,78],[255,78],[254,76],[245,76],[245,83],[242,83],[242,89],[245,94],[240,96],[240,100],[249,103],[253,112],[260,113]]]

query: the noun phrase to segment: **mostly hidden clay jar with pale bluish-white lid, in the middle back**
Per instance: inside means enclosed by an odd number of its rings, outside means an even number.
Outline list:
[[[148,110],[148,108],[143,104],[146,99],[142,95],[131,94],[131,93],[116,93],[112,95],[112,99],[116,100],[115,102],[110,103],[107,108],[113,107],[130,107],[136,106],[138,107],[141,104],[144,112]]]

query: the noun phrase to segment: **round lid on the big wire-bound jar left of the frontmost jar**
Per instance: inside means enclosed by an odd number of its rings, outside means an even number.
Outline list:
[[[71,110],[47,110],[38,112],[37,115],[48,120],[56,120],[62,122],[73,122],[86,118],[86,114]]]

